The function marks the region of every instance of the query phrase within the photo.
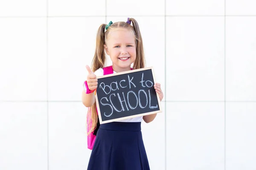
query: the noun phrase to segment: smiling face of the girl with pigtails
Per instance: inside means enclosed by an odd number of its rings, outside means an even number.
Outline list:
[[[113,62],[114,71],[131,70],[131,64],[136,59],[135,36],[131,31],[127,29],[111,31],[104,47]]]

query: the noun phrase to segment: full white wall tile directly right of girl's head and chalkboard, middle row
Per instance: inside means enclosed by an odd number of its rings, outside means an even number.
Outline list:
[[[166,17],[166,100],[224,100],[224,18]]]

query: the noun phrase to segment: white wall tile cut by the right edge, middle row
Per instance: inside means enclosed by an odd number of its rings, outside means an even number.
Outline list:
[[[226,19],[226,95],[256,101],[256,16]]]

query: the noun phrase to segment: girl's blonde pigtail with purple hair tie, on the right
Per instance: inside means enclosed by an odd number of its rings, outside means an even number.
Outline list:
[[[136,60],[134,62],[134,69],[145,68],[145,54],[143,49],[143,40],[140,34],[140,28],[137,21],[134,18],[130,18],[136,37]]]

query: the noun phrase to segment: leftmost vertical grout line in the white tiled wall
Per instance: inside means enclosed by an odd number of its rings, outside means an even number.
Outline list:
[[[46,95],[47,95],[47,170],[50,169],[49,167],[49,100],[48,100],[48,55],[49,55],[49,49],[48,49],[48,3],[49,3],[49,0],[46,1],[47,3],[47,6],[46,6],[46,15],[47,15],[47,18],[46,18],[46,77],[47,77],[47,84],[46,84]]]

